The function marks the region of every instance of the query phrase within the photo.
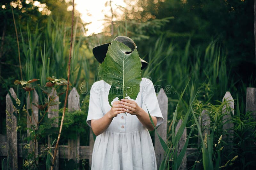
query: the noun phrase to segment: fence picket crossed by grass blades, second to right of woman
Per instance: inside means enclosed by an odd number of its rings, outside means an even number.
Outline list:
[[[177,134],[178,130],[180,129],[181,124],[182,124],[182,120],[180,119],[175,128],[175,135]],[[182,133],[182,136],[179,140],[179,143],[178,143],[178,155],[180,154],[180,151],[184,147],[186,140],[187,140],[187,128],[185,127],[185,129]],[[184,157],[182,158],[182,162],[180,164],[179,169],[187,169],[187,152],[185,153]]]

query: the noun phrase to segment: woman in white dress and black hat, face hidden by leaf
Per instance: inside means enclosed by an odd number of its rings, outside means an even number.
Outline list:
[[[118,36],[116,39],[133,51],[132,39]],[[102,63],[108,45],[93,48],[95,58]],[[141,69],[148,63],[142,59]],[[92,152],[92,169],[132,170],[157,169],[156,157],[148,130],[154,130],[147,109],[155,126],[163,122],[152,81],[142,78],[136,100],[117,99],[108,103],[110,85],[97,81],[90,90],[87,124],[97,135]],[[125,114],[126,112],[127,114]]]

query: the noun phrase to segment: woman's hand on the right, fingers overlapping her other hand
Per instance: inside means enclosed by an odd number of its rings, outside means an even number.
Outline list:
[[[140,115],[142,108],[134,100],[121,99],[120,104],[125,112],[131,115]]]

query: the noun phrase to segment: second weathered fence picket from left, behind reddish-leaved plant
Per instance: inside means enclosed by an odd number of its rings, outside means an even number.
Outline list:
[[[32,99],[32,102],[30,102],[30,99]],[[32,103],[38,103],[38,95],[36,93],[36,90],[33,90],[30,92],[30,96],[28,95],[27,97],[27,134],[29,136],[30,134],[30,131],[34,131],[32,129],[32,125],[34,127],[36,127],[37,125],[37,122],[38,122],[38,108],[33,105]],[[31,111],[29,111],[31,110]],[[31,114],[31,115],[30,115]],[[31,121],[31,122],[30,122]],[[31,124],[32,123],[32,124]],[[29,129],[32,129],[32,130],[29,130]],[[29,141],[29,144],[30,144],[30,152],[33,153],[34,152],[34,149],[35,149],[35,144],[34,144],[35,141]],[[38,142],[36,141],[36,156],[38,155]],[[38,163],[38,161],[37,161]]]

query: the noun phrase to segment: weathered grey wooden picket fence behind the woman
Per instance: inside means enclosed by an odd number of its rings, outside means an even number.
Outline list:
[[[54,91],[52,91],[53,93]],[[11,88],[10,93],[13,98],[17,98],[14,90]],[[32,92],[32,103],[38,103],[38,95],[36,91]],[[56,96],[56,94],[52,94],[53,96]],[[253,111],[253,115],[255,117],[256,113],[256,88],[247,88],[247,93],[246,93],[246,111]],[[71,90],[71,92],[68,95],[68,109],[69,110],[77,110],[79,108],[79,94],[75,88]],[[157,95],[158,103],[160,106],[160,109],[162,111],[163,117],[164,117],[164,122],[157,128],[157,131],[159,135],[166,141],[166,133],[167,133],[167,109],[168,109],[168,98],[166,94],[164,93],[164,89],[161,89]],[[56,97],[56,101],[59,101],[59,98]],[[234,99],[231,96],[229,92],[226,92],[225,96],[223,97],[223,101],[227,100],[228,105],[231,108],[232,114],[234,114]],[[32,107],[33,112],[34,112],[34,117],[31,117],[30,121],[32,124],[36,124],[38,122],[38,108],[33,106],[30,106],[30,99],[27,99],[27,109],[30,109]],[[58,110],[59,105],[54,105],[50,106],[49,111],[48,111],[48,117],[58,117]],[[222,112],[225,113],[226,106],[223,107]],[[9,113],[13,113],[14,109],[12,107],[12,100],[9,94],[6,95],[6,110]],[[12,122],[10,121],[12,119]],[[226,114],[223,116],[223,122],[225,123],[231,119],[231,115]],[[28,117],[28,128],[31,126],[31,123],[29,121]],[[56,120],[58,121],[58,119]],[[175,133],[177,133],[177,130],[180,128],[180,125],[182,123],[182,120],[179,120]],[[199,117],[199,123],[201,124],[201,130],[203,131],[203,134],[207,133],[209,134],[209,131],[207,130],[207,127],[210,126],[210,117],[207,114],[207,112],[204,110],[201,113],[201,116]],[[6,135],[1,135],[0,134],[0,156],[8,156],[9,160],[9,167],[11,169],[17,169],[18,168],[18,157],[22,157],[22,147],[23,145],[20,143],[17,143],[17,132],[16,132],[16,127],[13,126],[13,124],[17,124],[17,118],[13,114],[7,114],[6,115],[6,125],[7,127],[6,130]],[[55,122],[52,124],[54,127],[58,127],[58,122]],[[224,124],[223,126],[224,131],[228,131],[228,135],[223,136],[223,138],[228,140],[229,142],[233,141],[233,123],[229,122],[227,124]],[[27,132],[29,133],[29,131]],[[184,146],[184,143],[186,142],[187,139],[187,129],[185,128],[182,137],[179,141],[178,145],[178,152],[182,149]],[[48,146],[50,146],[51,138],[48,137]],[[59,149],[57,152],[57,158],[55,162],[55,169],[59,169],[59,159],[61,158],[67,158],[75,160],[77,163],[79,162],[79,159],[89,159],[89,165],[91,166],[91,158],[92,158],[92,149],[93,149],[93,134],[92,130],[90,130],[90,142],[89,146],[80,146],[80,137],[78,135],[77,139],[69,139],[68,140],[68,145],[59,145]],[[36,154],[38,154],[41,149],[44,149],[44,145],[36,145]],[[66,153],[66,154],[65,154]],[[157,166],[159,167],[163,157],[164,157],[164,150],[162,149],[162,146],[160,144],[160,141],[155,135],[155,153],[156,153],[156,161],[157,161]],[[183,158],[182,164],[179,169],[186,169],[187,167],[187,162],[188,161],[195,161],[197,158],[197,148],[188,148],[187,152]]]

